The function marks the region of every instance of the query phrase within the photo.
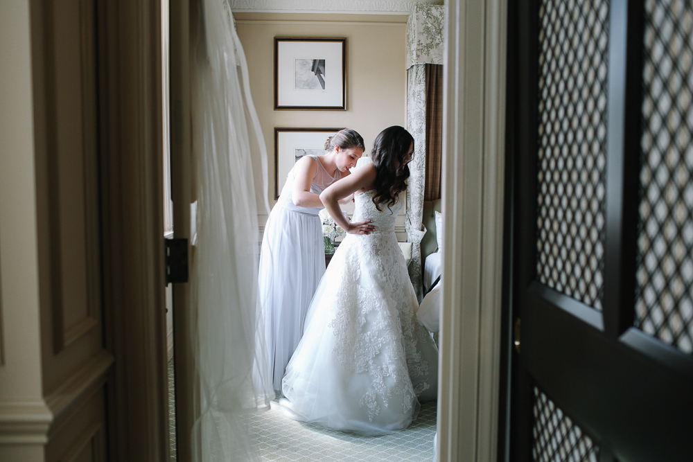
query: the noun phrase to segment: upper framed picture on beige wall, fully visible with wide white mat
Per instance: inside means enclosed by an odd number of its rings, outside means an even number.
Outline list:
[[[274,37],[274,109],[347,109],[347,39]]]

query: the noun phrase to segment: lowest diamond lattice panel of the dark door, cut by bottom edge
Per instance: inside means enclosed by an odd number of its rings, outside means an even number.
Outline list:
[[[597,462],[599,446],[534,387],[534,447],[537,462]]]

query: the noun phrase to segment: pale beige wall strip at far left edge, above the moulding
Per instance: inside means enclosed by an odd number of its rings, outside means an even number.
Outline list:
[[[30,42],[29,2],[0,2],[0,427],[43,405]]]

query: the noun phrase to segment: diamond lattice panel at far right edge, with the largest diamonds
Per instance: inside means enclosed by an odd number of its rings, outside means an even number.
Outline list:
[[[693,353],[693,6],[645,10],[635,326]]]

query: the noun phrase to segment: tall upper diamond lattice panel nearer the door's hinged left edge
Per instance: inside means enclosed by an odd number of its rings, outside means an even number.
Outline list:
[[[540,7],[538,281],[602,309],[608,2]]]

